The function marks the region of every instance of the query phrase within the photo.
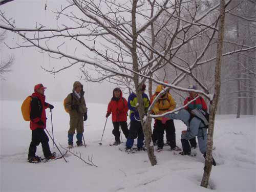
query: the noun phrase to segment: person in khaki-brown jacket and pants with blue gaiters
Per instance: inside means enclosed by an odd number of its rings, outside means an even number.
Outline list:
[[[65,109],[68,110],[70,116],[70,129],[68,132],[69,147],[73,147],[73,136],[77,131],[77,146],[82,145],[83,121],[87,120],[87,107],[84,100],[83,86],[79,81],[75,81],[73,92],[65,99]]]

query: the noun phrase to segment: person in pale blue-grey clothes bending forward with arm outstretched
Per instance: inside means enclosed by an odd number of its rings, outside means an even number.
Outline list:
[[[189,140],[197,136],[199,150],[202,154],[206,152],[207,148],[207,130],[202,128],[204,124],[200,119],[194,117],[189,123],[190,113],[187,110],[180,110],[178,113],[172,113],[165,115],[169,119],[179,119],[182,120],[188,127],[187,133],[185,135],[181,134],[181,139]]]

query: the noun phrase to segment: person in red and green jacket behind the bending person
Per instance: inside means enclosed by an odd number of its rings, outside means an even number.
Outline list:
[[[188,89],[197,90],[197,86],[189,85]],[[185,99],[183,105],[186,105],[189,101],[195,99],[198,96],[198,94],[194,91],[189,91],[188,93],[189,93],[189,97],[187,97]],[[188,106],[186,106],[184,109],[187,110],[187,111],[191,111],[191,110],[194,110],[194,109],[202,109],[204,111],[207,111],[207,105],[204,101],[204,98],[199,96],[195,101],[188,104]],[[192,139],[189,139],[189,143],[191,145],[191,148],[197,148],[196,137],[194,137]]]

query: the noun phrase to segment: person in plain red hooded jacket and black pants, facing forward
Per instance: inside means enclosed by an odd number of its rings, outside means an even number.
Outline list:
[[[119,126],[121,126],[122,132],[127,139],[129,136],[129,130],[127,128],[127,111],[128,104],[125,98],[122,97],[122,91],[119,88],[113,90],[113,97],[108,105],[108,111],[106,112],[106,118],[112,114],[112,122],[114,129],[112,131],[115,136],[115,142],[113,145],[119,145],[120,142],[120,132]]]

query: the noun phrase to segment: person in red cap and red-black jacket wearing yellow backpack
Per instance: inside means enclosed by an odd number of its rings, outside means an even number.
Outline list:
[[[40,162],[40,158],[35,155],[36,146],[42,144],[42,152],[45,158],[55,159],[49,147],[49,138],[45,133],[46,129],[46,109],[53,109],[54,106],[45,102],[45,87],[42,84],[37,84],[34,87],[34,93],[31,95],[30,109],[30,129],[32,131],[32,141],[29,146],[28,162]]]

